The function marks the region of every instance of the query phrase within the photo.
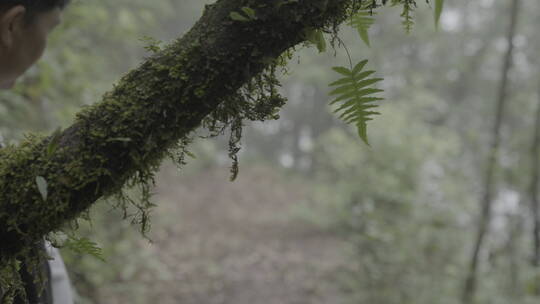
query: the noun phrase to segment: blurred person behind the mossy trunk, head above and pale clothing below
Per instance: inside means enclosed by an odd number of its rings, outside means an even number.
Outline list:
[[[60,23],[70,0],[0,0],[0,88],[10,89],[43,55],[49,33]],[[0,143],[1,144],[1,143]],[[73,304],[69,278],[58,252],[43,243],[51,260],[43,265],[48,277],[41,294],[34,276],[21,267],[20,274],[30,304]],[[21,298],[15,304],[23,304]]]

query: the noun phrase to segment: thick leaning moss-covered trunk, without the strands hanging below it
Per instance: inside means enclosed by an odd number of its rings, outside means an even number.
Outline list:
[[[343,22],[353,3],[218,0],[183,38],[124,76],[72,126],[0,151],[0,262],[24,256],[128,180],[151,178],[167,151],[209,113],[304,41],[306,29]],[[243,7],[256,18],[233,20],[231,12]]]

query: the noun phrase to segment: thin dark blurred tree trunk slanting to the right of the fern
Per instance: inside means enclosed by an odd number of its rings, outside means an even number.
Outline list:
[[[471,254],[469,270],[465,279],[465,286],[463,288],[462,303],[470,304],[474,302],[476,289],[477,289],[477,275],[478,275],[478,263],[480,260],[480,251],[484,244],[486,235],[489,232],[489,226],[492,216],[492,200],[493,191],[495,185],[495,167],[498,161],[499,147],[501,141],[501,125],[504,113],[504,107],[508,95],[508,78],[510,68],[512,66],[512,54],[514,51],[514,36],[516,31],[516,23],[519,11],[519,0],[512,1],[512,8],[510,11],[510,25],[508,27],[507,45],[508,49],[504,55],[504,62],[502,65],[501,79],[499,84],[499,93],[496,104],[495,122],[492,130],[492,142],[488,151],[487,166],[484,172],[484,189],[482,200],[480,201],[481,214],[478,222],[478,230],[476,233],[476,239],[473,245],[473,252]]]

